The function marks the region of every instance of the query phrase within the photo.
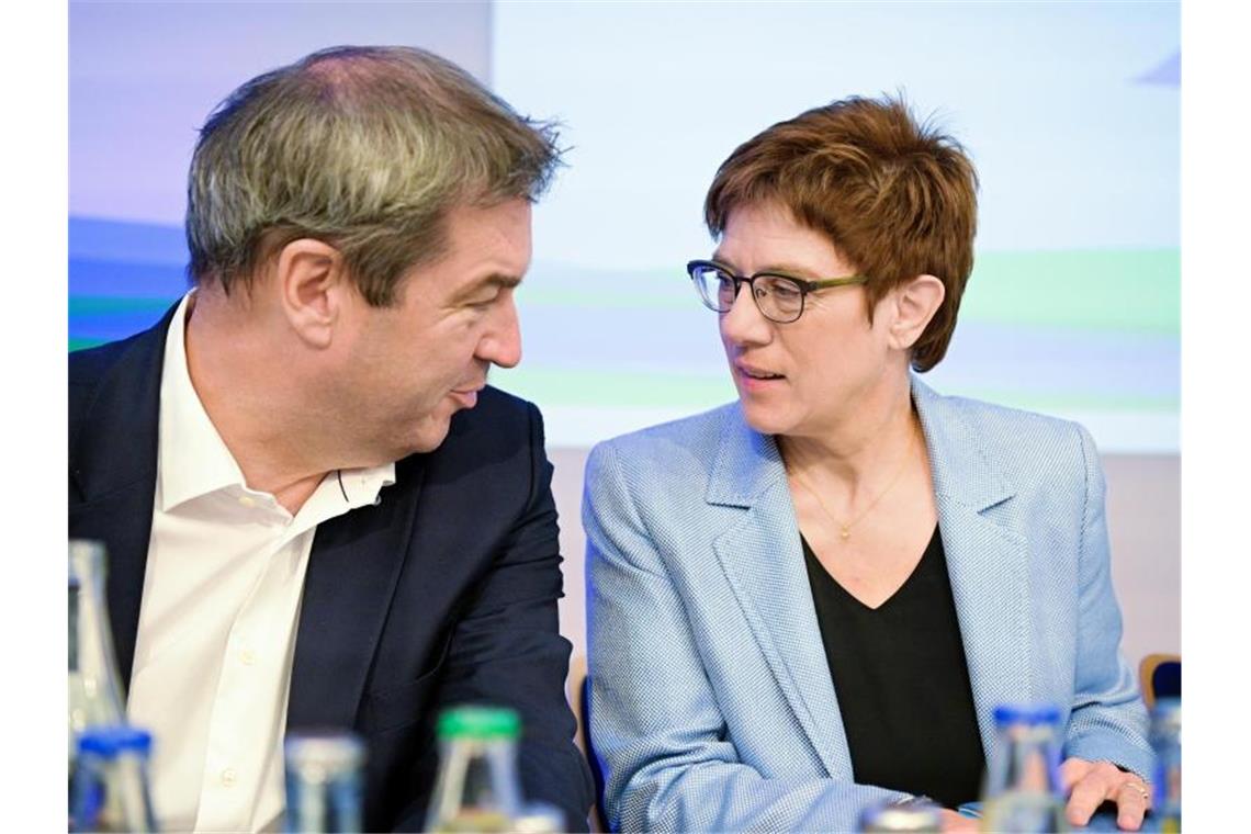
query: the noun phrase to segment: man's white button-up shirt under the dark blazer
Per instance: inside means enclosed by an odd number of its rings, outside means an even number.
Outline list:
[[[249,489],[191,385],[184,334],[193,304],[194,291],[165,341],[153,530],[126,710],[153,731],[153,804],[163,831],[276,830],[313,536],[322,521],[374,503],[394,483],[395,465],[327,474],[294,516],[271,494]]]

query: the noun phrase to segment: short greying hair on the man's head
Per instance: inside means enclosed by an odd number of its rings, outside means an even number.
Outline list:
[[[240,86],[200,131],[189,271],[230,293],[311,238],[343,254],[369,304],[390,305],[405,271],[445,254],[453,208],[537,200],[560,164],[555,140],[432,53],[313,53]]]

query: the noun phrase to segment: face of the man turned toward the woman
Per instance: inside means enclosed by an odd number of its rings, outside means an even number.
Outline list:
[[[448,253],[404,276],[398,301],[345,310],[335,369],[338,410],[365,456],[359,465],[430,451],[452,415],[472,409],[492,364],[522,359],[513,290],[530,261],[530,205],[462,206],[448,218]]]

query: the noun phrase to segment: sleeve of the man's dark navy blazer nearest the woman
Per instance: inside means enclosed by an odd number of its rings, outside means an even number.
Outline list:
[[[563,830],[587,831],[594,788],[573,743],[577,720],[564,693],[572,645],[559,633],[557,610],[563,576],[553,468],[544,453],[542,416],[532,404],[527,410],[529,496],[455,626],[438,700],[518,710],[524,798],[562,809]],[[407,824],[423,823],[414,816]]]

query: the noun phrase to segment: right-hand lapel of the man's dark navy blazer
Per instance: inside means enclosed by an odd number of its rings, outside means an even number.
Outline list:
[[[318,525],[304,576],[286,726],[353,726],[413,541],[424,456],[395,464],[375,506]]]

